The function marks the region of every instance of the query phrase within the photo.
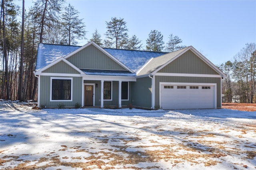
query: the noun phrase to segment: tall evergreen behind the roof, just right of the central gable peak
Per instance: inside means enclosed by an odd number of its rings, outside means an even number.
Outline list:
[[[105,45],[110,45],[112,42],[115,44],[116,49],[124,47],[128,39],[128,29],[126,28],[126,22],[124,18],[111,18],[111,21],[107,22],[107,31]]]

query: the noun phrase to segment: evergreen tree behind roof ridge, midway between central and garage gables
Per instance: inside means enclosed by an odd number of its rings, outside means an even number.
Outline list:
[[[164,49],[163,35],[161,32],[151,30],[146,40],[147,51],[162,51]]]

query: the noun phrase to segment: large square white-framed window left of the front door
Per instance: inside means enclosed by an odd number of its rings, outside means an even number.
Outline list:
[[[72,78],[51,77],[50,101],[72,101]]]

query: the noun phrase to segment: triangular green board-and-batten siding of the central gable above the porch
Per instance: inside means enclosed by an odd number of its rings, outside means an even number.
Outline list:
[[[77,68],[100,69],[100,70],[126,70],[120,64],[108,57],[94,45],[82,49],[70,56],[67,60]]]

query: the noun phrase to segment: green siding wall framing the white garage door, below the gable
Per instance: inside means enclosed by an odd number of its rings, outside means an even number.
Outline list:
[[[178,77],[155,76],[155,106],[159,106],[160,82],[188,82],[188,83],[216,83],[217,84],[217,108],[221,108],[221,78],[212,77]]]

